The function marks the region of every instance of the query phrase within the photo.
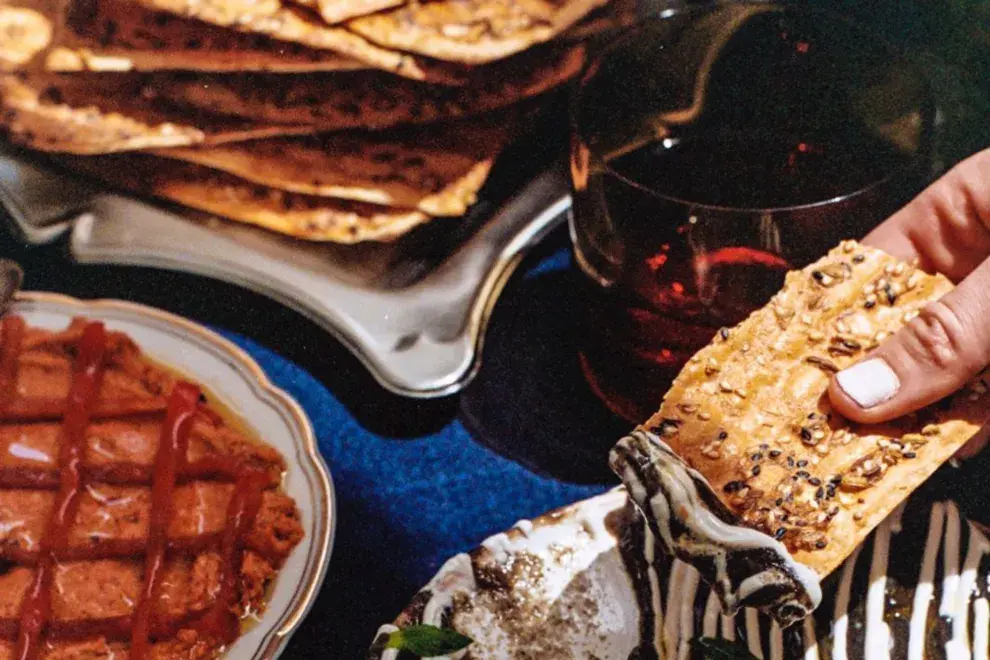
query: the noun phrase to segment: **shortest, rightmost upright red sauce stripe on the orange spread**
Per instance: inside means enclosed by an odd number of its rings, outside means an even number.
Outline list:
[[[226,643],[237,639],[240,632],[240,619],[234,613],[234,607],[237,605],[238,567],[243,554],[241,539],[254,525],[268,480],[266,473],[250,469],[244,470],[238,478],[220,539],[220,589],[210,609],[192,626]]]

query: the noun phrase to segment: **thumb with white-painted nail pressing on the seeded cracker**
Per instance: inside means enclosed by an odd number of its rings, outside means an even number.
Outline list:
[[[990,361],[990,261],[921,310],[861,362],[833,377],[832,405],[848,419],[900,417],[960,389]]]

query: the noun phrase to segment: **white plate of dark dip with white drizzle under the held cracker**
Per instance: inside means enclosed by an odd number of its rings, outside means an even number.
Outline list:
[[[755,610],[721,614],[698,573],[660,557],[616,489],[517,523],[450,559],[387,633],[414,623],[474,639],[473,659],[687,660],[691,640],[736,640],[769,660],[986,660],[990,541],[952,502],[916,496],[822,585],[814,616],[781,631]],[[659,616],[655,613],[659,612]]]

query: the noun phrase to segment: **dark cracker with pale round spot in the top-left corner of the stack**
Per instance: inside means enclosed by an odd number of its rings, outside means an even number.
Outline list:
[[[327,50],[219,28],[129,0],[0,2],[0,26],[21,25],[0,37],[0,69],[47,71],[341,71],[367,65]],[[4,30],[0,27],[0,34]],[[52,34],[54,33],[54,38]],[[37,57],[36,57],[37,56]],[[31,61],[32,59],[35,61]]]

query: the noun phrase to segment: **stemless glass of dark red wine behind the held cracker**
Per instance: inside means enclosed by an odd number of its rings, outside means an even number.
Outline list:
[[[643,421],[685,361],[931,172],[918,70],[826,13],[732,3],[645,21],[580,79],[571,237],[580,360]]]

